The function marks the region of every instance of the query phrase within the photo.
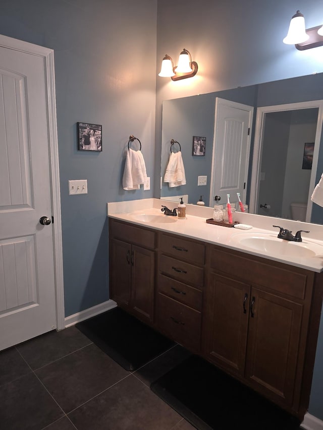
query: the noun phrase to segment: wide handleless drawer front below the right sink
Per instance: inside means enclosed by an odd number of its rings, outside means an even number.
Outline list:
[[[311,272],[283,263],[274,261],[265,263],[265,261],[258,257],[252,257],[251,260],[240,253],[212,248],[210,267],[237,278],[243,277],[244,282],[304,299],[306,283],[309,279],[312,283],[313,274]]]

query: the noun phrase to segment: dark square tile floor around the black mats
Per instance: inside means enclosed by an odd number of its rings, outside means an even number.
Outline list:
[[[5,430],[192,430],[149,389],[184,360],[176,345],[136,372],[75,327],[0,352],[0,428]]]

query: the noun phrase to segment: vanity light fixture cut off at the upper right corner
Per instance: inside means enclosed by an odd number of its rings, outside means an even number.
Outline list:
[[[323,46],[323,26],[318,25],[317,27],[305,29],[304,15],[297,11],[292,16],[287,36],[283,42],[295,45],[300,51]]]

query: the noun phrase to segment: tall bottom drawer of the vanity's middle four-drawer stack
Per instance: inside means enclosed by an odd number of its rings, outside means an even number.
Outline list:
[[[158,293],[157,302],[160,330],[176,342],[199,350],[201,313],[161,293]]]

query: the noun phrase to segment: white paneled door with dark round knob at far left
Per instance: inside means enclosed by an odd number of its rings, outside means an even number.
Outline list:
[[[55,329],[44,58],[0,47],[0,350]]]

